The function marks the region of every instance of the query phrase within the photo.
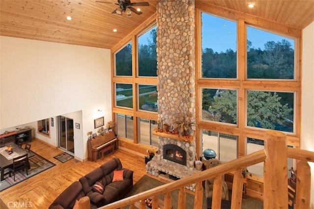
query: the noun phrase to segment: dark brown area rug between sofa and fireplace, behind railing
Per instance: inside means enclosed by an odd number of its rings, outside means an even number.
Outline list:
[[[147,191],[149,189],[155,188],[157,186],[164,185],[163,182],[160,182],[150,176],[144,175],[138,182],[135,183],[132,190],[128,193],[127,197],[138,194],[143,191]],[[173,209],[178,208],[178,194],[179,189],[174,190],[171,193],[171,206]],[[203,194],[203,209],[206,209],[206,196]],[[231,199],[232,191],[229,190],[229,198]],[[158,198],[164,200],[164,194],[158,195]],[[186,205],[185,209],[194,208],[194,195],[186,192]],[[242,207],[241,209],[263,209],[263,202],[261,200],[252,198],[247,196],[246,199],[242,199]]]

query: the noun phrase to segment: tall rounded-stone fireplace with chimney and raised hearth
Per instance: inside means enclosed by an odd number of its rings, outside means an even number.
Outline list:
[[[158,120],[162,124],[173,125],[178,115],[186,119],[195,116],[194,9],[194,0],[167,0],[157,4],[157,106]],[[158,153],[147,163],[148,173],[158,176],[162,171],[184,178],[200,172],[194,168],[194,137],[188,141],[170,135],[158,135],[158,138]],[[167,151],[168,144],[180,149]],[[170,158],[176,151],[185,152],[185,161]]]

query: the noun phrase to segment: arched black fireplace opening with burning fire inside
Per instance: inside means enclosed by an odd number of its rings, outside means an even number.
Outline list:
[[[175,163],[186,165],[186,152],[175,144],[165,144],[163,146],[163,158]]]

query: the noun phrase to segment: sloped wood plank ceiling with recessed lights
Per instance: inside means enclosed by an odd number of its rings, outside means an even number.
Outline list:
[[[111,14],[116,0],[0,0],[0,35],[81,46],[111,48],[156,12],[159,0],[140,7],[143,14]],[[302,29],[314,21],[314,0],[197,0]],[[253,3],[254,8],[248,8]],[[72,20],[68,21],[67,16]],[[117,29],[117,32],[113,32]]]

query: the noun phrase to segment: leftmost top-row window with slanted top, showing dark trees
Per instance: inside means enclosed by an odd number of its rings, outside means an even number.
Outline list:
[[[132,76],[132,43],[115,54],[116,75]]]

